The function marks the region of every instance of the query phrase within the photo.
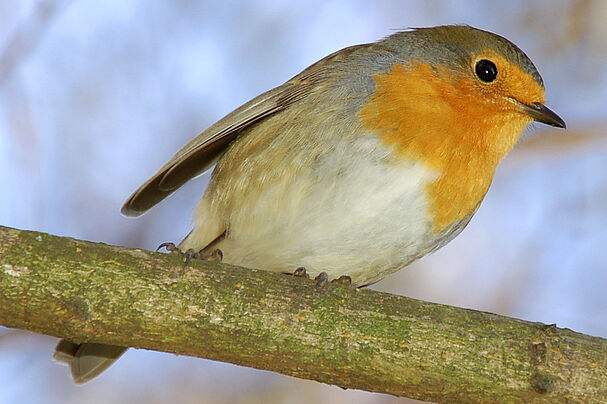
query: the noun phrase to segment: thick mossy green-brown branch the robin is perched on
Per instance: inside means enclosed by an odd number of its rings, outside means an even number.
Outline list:
[[[435,402],[607,397],[602,338],[1,226],[0,324]]]

